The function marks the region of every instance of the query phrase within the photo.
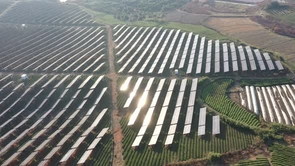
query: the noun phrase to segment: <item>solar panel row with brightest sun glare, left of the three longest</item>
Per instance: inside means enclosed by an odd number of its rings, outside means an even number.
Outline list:
[[[145,89],[144,89],[144,91],[143,91],[143,93],[142,93],[142,95],[141,95],[141,97],[140,97],[140,99],[138,101],[137,107],[135,108],[135,110],[131,114],[127,125],[133,125],[134,124],[134,122],[135,122],[135,120],[136,120],[136,118],[137,118],[137,116],[138,116],[138,114],[139,114],[139,112],[141,110],[141,107],[146,102],[147,95],[148,95],[149,89],[151,87],[151,84],[153,82],[153,79],[154,79],[154,77],[148,79],[148,82],[147,82],[147,84],[145,86]]]

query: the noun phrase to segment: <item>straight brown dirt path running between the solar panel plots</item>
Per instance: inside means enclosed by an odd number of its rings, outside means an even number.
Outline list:
[[[111,97],[112,97],[112,132],[113,132],[113,154],[112,154],[112,165],[123,165],[124,159],[122,155],[122,130],[120,126],[120,116],[117,109],[117,91],[116,91],[116,80],[117,74],[114,70],[113,64],[113,46],[112,46],[112,31],[109,25],[107,28],[107,45],[108,45],[108,63],[109,63],[109,74],[107,76],[110,79],[111,86]]]

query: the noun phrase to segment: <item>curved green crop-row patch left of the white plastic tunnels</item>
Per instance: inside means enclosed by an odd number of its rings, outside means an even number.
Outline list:
[[[231,119],[250,126],[259,126],[260,122],[254,114],[234,103],[226,95],[226,89],[231,83],[231,79],[218,79],[209,83],[202,89],[202,99],[207,105]]]

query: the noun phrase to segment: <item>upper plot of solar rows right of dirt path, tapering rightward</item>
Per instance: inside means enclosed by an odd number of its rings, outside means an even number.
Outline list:
[[[192,32],[126,25],[116,25],[113,31],[115,69],[122,74],[194,76],[284,72],[280,61],[274,66],[268,53],[261,56],[258,49],[207,40]]]

